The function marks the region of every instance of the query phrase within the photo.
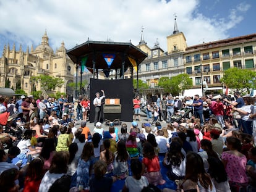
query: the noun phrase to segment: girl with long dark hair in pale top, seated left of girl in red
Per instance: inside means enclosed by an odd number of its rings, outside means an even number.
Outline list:
[[[114,153],[114,176],[123,179],[129,175],[127,162],[129,158],[130,156],[126,150],[126,143],[122,140],[119,141],[117,143],[117,151]]]

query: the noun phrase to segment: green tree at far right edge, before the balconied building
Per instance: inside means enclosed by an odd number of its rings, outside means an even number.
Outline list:
[[[256,86],[256,72],[234,67],[226,70],[220,81],[230,89],[241,91],[241,93],[247,89],[250,93],[250,89]]]

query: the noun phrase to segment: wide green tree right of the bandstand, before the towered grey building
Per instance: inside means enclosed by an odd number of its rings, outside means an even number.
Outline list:
[[[171,93],[173,95],[183,94],[184,90],[192,88],[192,79],[187,74],[179,74],[172,78],[161,77],[158,86],[164,89],[164,92]]]

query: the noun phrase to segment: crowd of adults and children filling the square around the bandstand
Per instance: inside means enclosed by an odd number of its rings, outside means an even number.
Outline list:
[[[95,107],[105,97],[101,92]],[[114,183],[123,181],[122,191],[255,191],[255,98],[234,96],[157,96],[146,104],[147,121],[140,124],[135,96],[131,127],[104,128],[97,117],[93,131],[87,127],[88,98],[80,99],[82,115],[76,117],[64,96],[0,98],[1,112],[13,111],[5,127],[22,132],[4,133],[0,125],[0,189],[114,191]],[[74,119],[82,119],[80,127]]]

